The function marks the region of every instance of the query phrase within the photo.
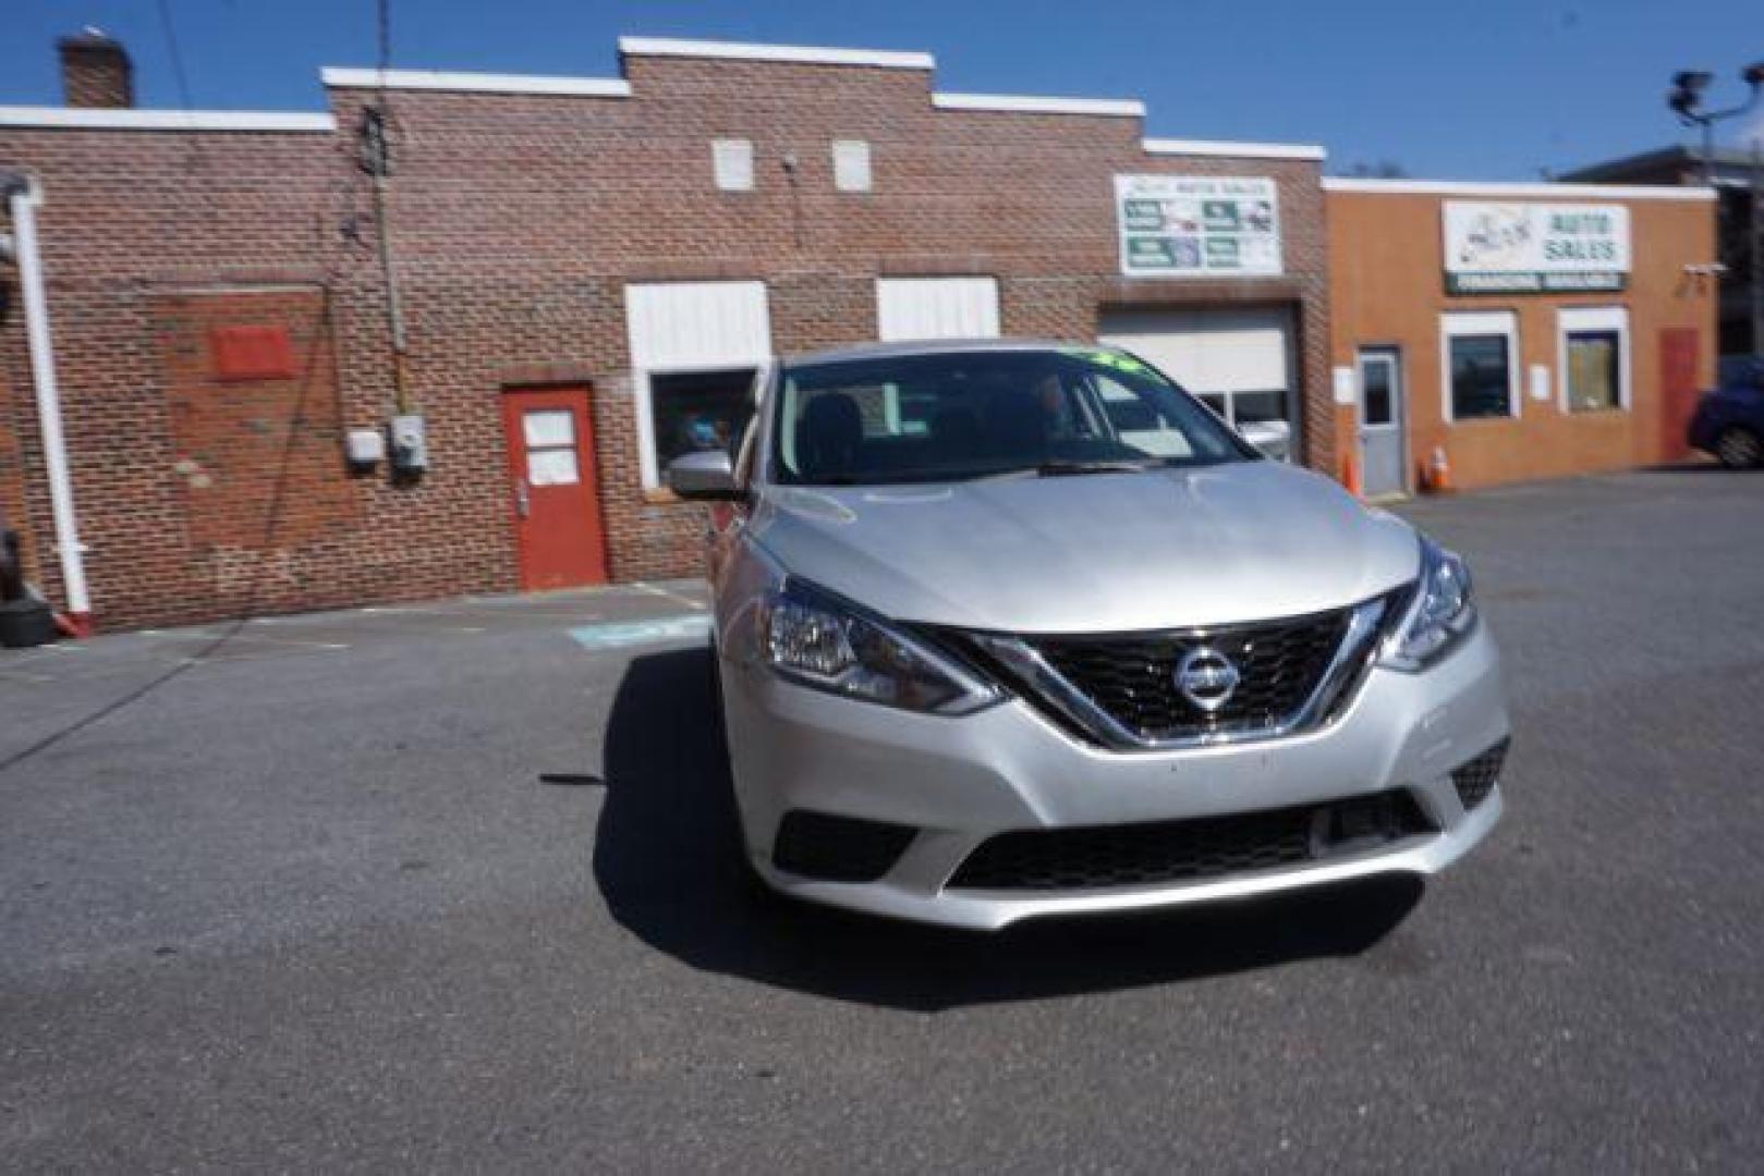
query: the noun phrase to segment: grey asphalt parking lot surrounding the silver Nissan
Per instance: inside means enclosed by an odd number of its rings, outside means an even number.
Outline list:
[[[0,1157],[1755,1171],[1764,474],[1399,510],[1506,654],[1496,836],[1000,936],[739,885],[700,585],[0,652]]]

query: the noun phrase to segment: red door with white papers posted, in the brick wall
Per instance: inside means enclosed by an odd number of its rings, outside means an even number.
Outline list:
[[[587,388],[517,388],[503,397],[520,587],[607,582]]]

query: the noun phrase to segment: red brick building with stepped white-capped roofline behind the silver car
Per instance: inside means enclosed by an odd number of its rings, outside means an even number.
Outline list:
[[[1341,471],[1319,148],[946,93],[917,53],[619,51],[605,79],[328,69],[326,113],[256,115],[132,109],[120,46],[64,42],[69,106],[0,108],[67,455],[58,499],[0,266],[0,510],[51,596],[83,573],[129,626],[691,575],[665,462],[771,356],[877,337],[1118,340]],[[393,418],[427,469],[346,460]]]

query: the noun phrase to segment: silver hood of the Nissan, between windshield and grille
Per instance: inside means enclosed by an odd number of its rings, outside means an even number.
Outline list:
[[[1279,462],[766,487],[750,536],[785,571],[884,615],[1018,633],[1300,615],[1420,568],[1408,524]]]

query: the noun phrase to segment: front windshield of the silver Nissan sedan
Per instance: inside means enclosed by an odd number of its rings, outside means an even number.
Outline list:
[[[1254,460],[1203,404],[1101,347],[975,349],[785,367],[781,485],[961,481]]]

